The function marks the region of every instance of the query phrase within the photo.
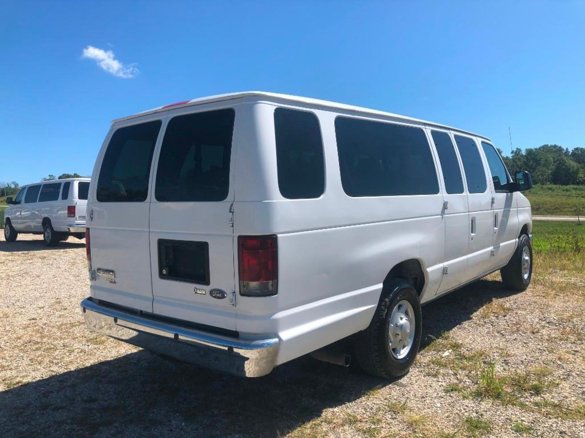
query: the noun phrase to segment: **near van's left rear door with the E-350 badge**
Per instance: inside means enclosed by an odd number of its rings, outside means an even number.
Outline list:
[[[92,297],[147,312],[152,312],[149,182],[162,124],[160,116],[149,116],[112,128],[88,202]]]

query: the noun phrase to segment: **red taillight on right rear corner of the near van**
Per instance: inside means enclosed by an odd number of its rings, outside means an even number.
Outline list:
[[[278,246],[275,235],[239,236],[238,263],[240,295],[249,297],[276,295]]]

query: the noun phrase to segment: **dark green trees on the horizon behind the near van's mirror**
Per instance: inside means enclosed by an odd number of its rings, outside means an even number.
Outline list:
[[[510,157],[501,155],[510,173],[528,171],[535,184],[585,185],[585,148],[569,151],[558,144],[543,144],[524,152],[517,148]]]

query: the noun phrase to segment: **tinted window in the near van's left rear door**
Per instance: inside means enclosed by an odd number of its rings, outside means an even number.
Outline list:
[[[99,171],[99,202],[142,202],[148,195],[150,163],[160,120],[119,128]]]

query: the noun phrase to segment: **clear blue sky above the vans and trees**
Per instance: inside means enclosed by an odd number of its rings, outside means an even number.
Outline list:
[[[246,90],[446,123],[505,152],[508,126],[514,147],[585,147],[583,1],[2,1],[0,16],[0,181],[89,175],[110,120]]]

